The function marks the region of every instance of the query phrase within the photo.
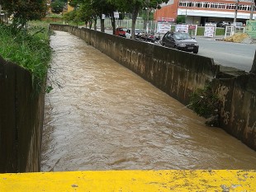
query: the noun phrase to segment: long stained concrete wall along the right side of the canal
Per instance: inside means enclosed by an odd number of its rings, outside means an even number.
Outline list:
[[[193,91],[204,87],[206,82],[214,82],[220,96],[220,127],[256,150],[255,75],[225,75],[213,59],[96,30],[50,27],[80,37],[184,105]]]

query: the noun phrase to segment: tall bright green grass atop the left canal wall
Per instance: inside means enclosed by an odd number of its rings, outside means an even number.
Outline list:
[[[40,91],[51,59],[48,26],[28,25],[16,30],[0,24],[0,42],[2,58],[31,72],[33,84]]]

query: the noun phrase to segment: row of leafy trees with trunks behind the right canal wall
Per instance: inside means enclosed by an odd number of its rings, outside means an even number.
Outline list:
[[[92,23],[94,21],[94,26],[96,26],[97,17],[102,18],[102,14],[109,16],[111,18],[113,34],[116,29],[114,12],[121,12],[121,15],[125,12],[130,13],[132,19],[131,36],[134,38],[135,22],[138,13],[144,9],[160,8],[159,4],[162,2],[168,2],[168,0],[70,0],[69,5],[75,8],[75,12],[78,12],[73,14],[75,15],[73,19],[79,21],[84,17],[86,23]],[[103,21],[101,21],[102,32],[105,29]]]

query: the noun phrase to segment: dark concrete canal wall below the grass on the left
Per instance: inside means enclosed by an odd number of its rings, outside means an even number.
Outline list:
[[[24,68],[0,57],[0,172],[40,171],[45,96]]]

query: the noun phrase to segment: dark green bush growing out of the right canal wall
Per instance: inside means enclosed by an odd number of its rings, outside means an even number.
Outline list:
[[[190,96],[190,109],[194,110],[197,115],[205,118],[216,115],[218,111],[219,99],[211,89],[211,83],[206,84],[205,87],[197,89]]]

